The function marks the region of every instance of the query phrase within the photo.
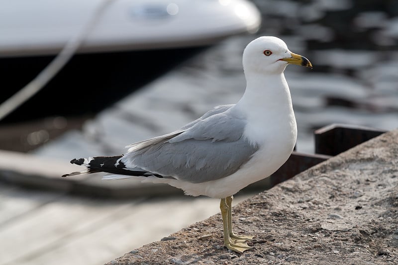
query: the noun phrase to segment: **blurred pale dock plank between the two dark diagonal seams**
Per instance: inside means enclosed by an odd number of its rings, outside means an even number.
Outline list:
[[[94,199],[61,197],[34,212],[0,226],[0,264],[41,253],[43,249],[78,231],[91,229],[99,220],[123,212],[133,201],[107,203]],[[22,251],[21,251],[22,250]],[[19,262],[18,262],[19,264]]]

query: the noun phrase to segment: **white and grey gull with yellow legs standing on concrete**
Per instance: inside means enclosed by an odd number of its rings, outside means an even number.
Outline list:
[[[251,41],[242,62],[246,89],[236,104],[216,106],[177,131],[128,145],[124,155],[73,159],[86,170],[62,177],[105,172],[103,179],[167,183],[186,195],[219,198],[224,246],[252,250],[247,243],[254,237],[232,230],[233,195],[288,160],[297,124],[284,71],[289,64],[312,65],[273,36]]]

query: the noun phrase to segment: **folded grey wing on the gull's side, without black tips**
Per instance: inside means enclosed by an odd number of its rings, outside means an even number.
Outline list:
[[[243,137],[245,117],[231,107],[215,108],[184,126],[184,131],[129,150],[121,161],[129,168],[193,183],[229,176],[258,150]]]

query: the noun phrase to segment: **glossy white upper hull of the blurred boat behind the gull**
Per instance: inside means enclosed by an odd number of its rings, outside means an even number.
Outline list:
[[[3,0],[0,57],[59,52],[89,23],[104,0]],[[113,0],[79,52],[210,44],[255,32],[258,9],[246,0]]]

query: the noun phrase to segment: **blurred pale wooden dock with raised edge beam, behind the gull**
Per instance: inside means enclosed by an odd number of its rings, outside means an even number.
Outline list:
[[[145,185],[146,195],[115,198],[121,186],[124,192],[145,188],[99,175],[61,178],[76,168],[32,155],[1,151],[0,169],[0,265],[104,264],[219,211],[218,199],[182,196],[177,189],[162,196],[162,185],[152,185],[158,187],[152,193]],[[86,193],[71,194],[83,187]]]

